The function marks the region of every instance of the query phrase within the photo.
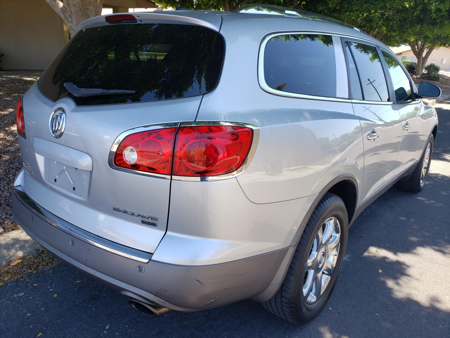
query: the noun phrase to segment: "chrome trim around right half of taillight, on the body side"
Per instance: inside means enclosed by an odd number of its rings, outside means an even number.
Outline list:
[[[253,140],[252,146],[250,146],[250,150],[248,151],[247,158],[244,160],[244,163],[235,171],[229,174],[218,175],[218,176],[177,176],[172,175],[172,179],[175,181],[193,181],[193,182],[207,182],[207,181],[219,181],[228,178],[234,178],[242,174],[252,163],[253,158],[255,157],[259,138],[260,138],[260,129],[254,124],[250,123],[241,123],[241,122],[224,122],[224,121],[195,121],[195,122],[182,122],[180,123],[180,127],[189,127],[189,126],[239,126],[239,127],[247,127],[253,129]]]

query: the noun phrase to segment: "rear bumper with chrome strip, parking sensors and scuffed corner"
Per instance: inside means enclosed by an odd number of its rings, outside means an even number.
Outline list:
[[[122,294],[173,310],[198,311],[260,294],[288,251],[216,265],[166,264],[65,222],[32,201],[21,186],[14,187],[12,205],[14,220],[60,260]]]

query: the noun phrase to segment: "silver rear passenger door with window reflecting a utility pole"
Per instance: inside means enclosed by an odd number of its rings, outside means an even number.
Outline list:
[[[353,110],[364,142],[364,178],[360,203],[394,179],[401,142],[401,118],[391,99],[378,47],[345,41]]]

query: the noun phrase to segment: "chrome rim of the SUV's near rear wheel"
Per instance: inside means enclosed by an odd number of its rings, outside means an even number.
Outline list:
[[[307,304],[314,304],[328,287],[338,261],[340,241],[338,219],[326,219],[315,234],[305,263],[302,292]]]

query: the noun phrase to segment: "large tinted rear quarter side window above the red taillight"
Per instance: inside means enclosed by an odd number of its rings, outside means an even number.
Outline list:
[[[264,80],[273,89],[336,96],[336,60],[329,35],[279,35],[264,50]]]

